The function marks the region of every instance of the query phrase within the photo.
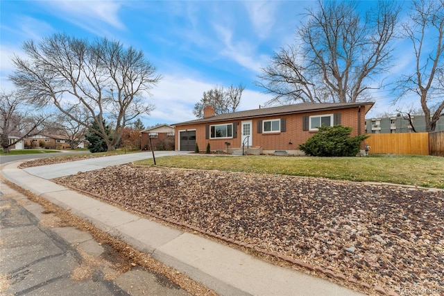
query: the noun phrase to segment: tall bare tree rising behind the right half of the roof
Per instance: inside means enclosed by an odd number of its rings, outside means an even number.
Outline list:
[[[275,96],[268,104],[366,99],[372,76],[391,62],[399,11],[379,1],[362,19],[356,2],[318,1],[296,32],[298,45],[276,52],[258,76],[256,84]]]

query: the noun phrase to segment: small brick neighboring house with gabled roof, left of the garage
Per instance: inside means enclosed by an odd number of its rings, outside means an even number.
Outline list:
[[[150,149],[151,145],[155,150],[174,150],[174,126],[162,124],[151,129],[140,132],[140,149]]]

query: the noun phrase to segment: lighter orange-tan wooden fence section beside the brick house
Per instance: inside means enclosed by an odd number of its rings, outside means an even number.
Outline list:
[[[372,133],[365,142],[369,154],[429,155],[429,133]]]

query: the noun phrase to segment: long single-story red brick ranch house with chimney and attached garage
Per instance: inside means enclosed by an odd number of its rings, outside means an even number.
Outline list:
[[[176,124],[176,149],[247,154],[303,154],[299,145],[307,141],[321,124],[352,127],[352,136],[365,133],[365,115],[372,102],[303,103],[215,115],[205,107],[204,117]]]

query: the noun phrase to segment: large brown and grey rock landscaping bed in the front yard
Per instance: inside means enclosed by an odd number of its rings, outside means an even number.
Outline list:
[[[364,293],[444,295],[444,191],[133,165],[54,181]]]

